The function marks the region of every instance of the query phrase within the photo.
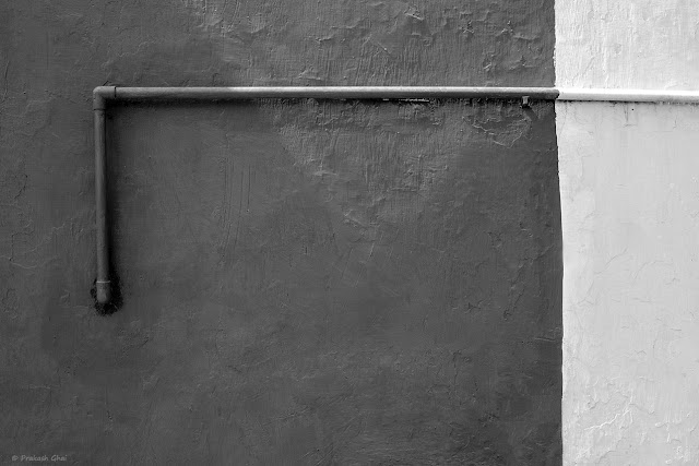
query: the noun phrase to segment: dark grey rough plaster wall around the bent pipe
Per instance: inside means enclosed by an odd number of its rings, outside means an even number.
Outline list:
[[[559,462],[550,105],[112,108],[88,294],[95,85],[552,85],[552,3],[3,3],[2,461]]]

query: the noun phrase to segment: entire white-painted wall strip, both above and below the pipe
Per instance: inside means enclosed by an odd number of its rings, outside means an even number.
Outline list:
[[[558,1],[556,83],[696,89],[689,0]],[[556,103],[566,464],[697,464],[699,109]]]

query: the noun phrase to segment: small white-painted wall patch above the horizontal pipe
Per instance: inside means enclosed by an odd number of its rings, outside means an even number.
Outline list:
[[[556,85],[697,89],[696,0],[556,2]]]

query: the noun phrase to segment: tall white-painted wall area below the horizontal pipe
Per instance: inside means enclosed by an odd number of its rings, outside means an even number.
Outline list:
[[[699,462],[699,108],[556,104],[566,464]]]

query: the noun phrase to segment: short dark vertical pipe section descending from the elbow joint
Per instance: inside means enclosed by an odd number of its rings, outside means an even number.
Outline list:
[[[97,219],[97,303],[106,304],[111,298],[109,284],[109,254],[107,239],[107,166],[105,160],[105,99],[96,96],[95,118],[95,213]]]

